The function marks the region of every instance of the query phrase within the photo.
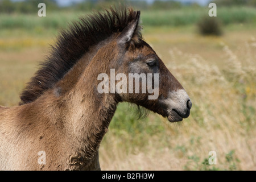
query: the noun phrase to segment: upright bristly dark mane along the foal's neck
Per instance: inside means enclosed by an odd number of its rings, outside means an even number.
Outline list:
[[[104,13],[97,12],[82,17],[80,21],[69,26],[68,30],[61,31],[47,60],[40,64],[40,69],[20,94],[19,104],[35,101],[46,90],[52,88],[91,46],[115,32],[121,32],[136,18],[137,13],[138,11],[125,7],[119,10],[110,8],[110,11],[105,10]],[[142,39],[138,30],[136,34]]]

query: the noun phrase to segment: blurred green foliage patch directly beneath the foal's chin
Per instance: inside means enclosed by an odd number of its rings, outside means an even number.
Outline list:
[[[109,130],[118,136],[120,142],[133,143],[135,146],[143,146],[148,142],[148,137],[165,131],[159,117],[150,116],[138,119],[136,105],[121,103],[110,123]],[[127,147],[129,148],[129,147]]]

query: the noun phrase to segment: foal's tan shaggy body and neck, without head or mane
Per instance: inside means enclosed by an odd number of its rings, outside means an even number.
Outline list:
[[[86,57],[82,57],[81,64]],[[97,85],[91,80],[93,75],[97,80],[97,75],[87,70],[93,69],[92,65],[81,69],[81,64],[77,63],[36,101],[0,113],[1,169],[100,169],[98,147],[108,131],[117,101],[110,95],[94,96]],[[77,80],[74,73],[81,79]],[[46,164],[39,165],[39,151],[46,152]]]

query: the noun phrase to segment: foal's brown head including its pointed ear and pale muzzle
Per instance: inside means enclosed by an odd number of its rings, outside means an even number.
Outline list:
[[[109,60],[110,93],[167,117],[170,122],[182,121],[189,116],[192,102],[155,51],[142,40],[137,32],[140,12],[135,14],[135,19],[106,45],[109,54],[115,55]]]

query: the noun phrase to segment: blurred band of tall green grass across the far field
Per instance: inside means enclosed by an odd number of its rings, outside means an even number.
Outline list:
[[[177,10],[142,11],[143,26],[186,26],[195,24],[202,16],[208,15],[208,7],[183,7]],[[37,14],[0,14],[0,28],[25,30],[59,29],[68,26],[68,22],[77,20],[85,12],[49,12],[46,17]],[[223,24],[256,23],[256,11],[251,7],[219,7],[217,18]]]

